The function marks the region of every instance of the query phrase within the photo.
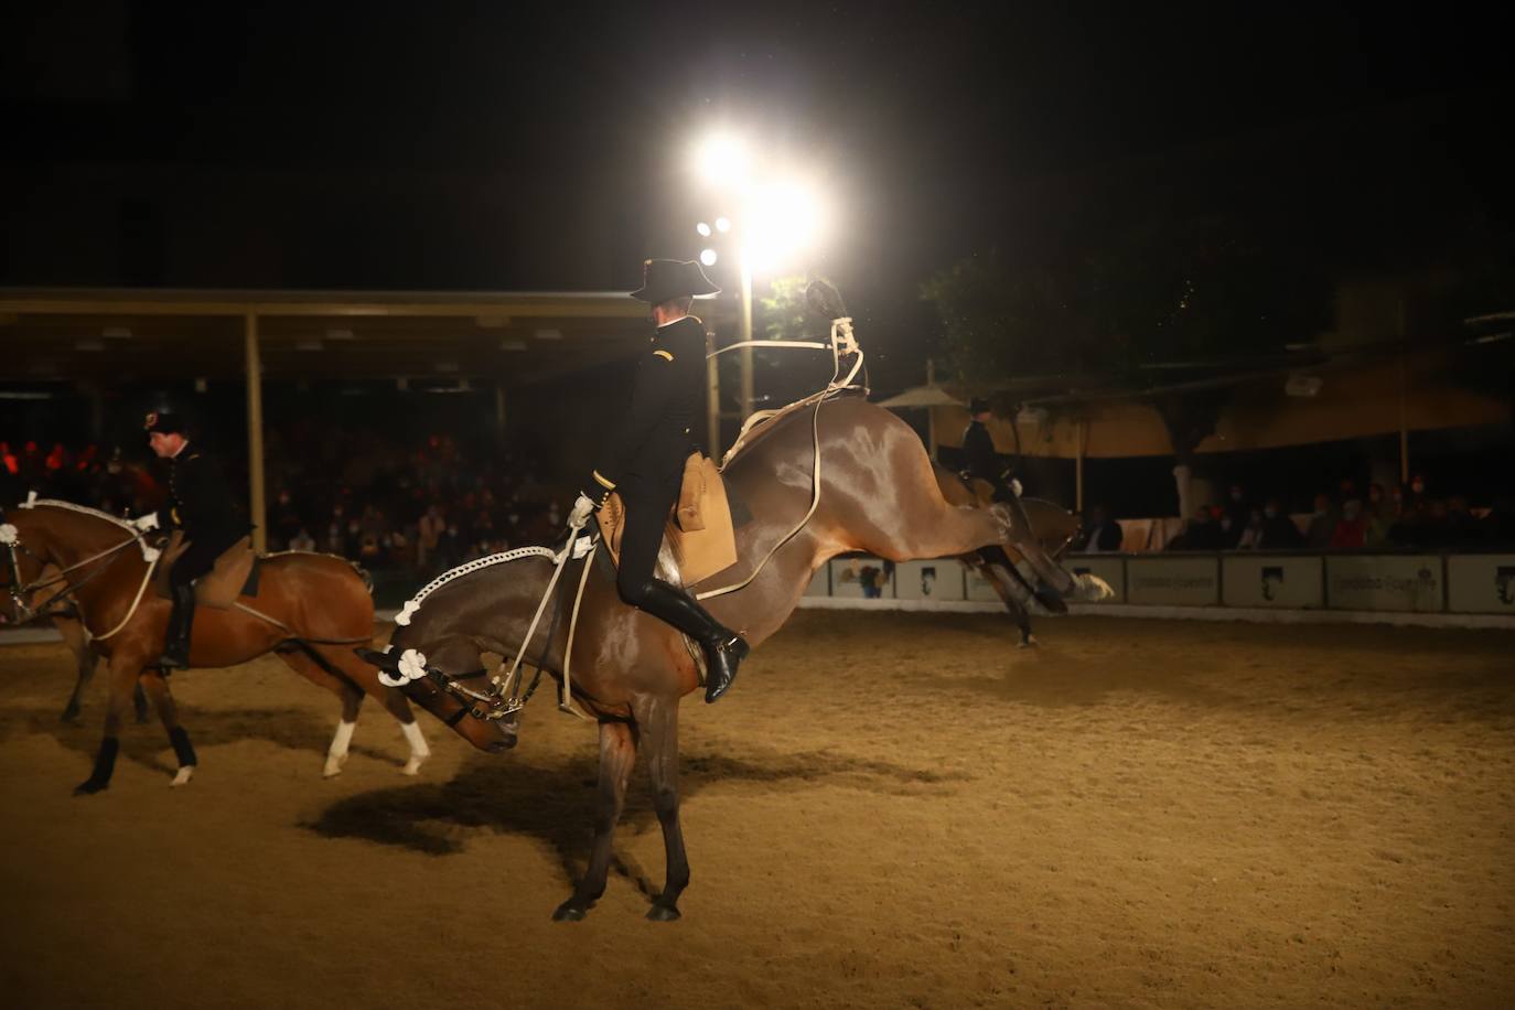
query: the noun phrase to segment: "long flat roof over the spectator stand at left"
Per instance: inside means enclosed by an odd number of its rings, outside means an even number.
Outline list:
[[[624,292],[0,288],[0,382],[488,379],[530,385],[635,353]]]

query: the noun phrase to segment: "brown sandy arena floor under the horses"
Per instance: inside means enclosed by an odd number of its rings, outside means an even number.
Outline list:
[[[582,924],[595,731],[398,774],[371,703],[262,660],[174,678],[76,800],[103,713],[0,648],[8,1007],[1509,1007],[1515,634],[800,613],[685,701],[682,922],[638,768]]]

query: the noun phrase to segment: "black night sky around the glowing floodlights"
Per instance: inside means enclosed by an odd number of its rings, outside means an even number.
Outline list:
[[[717,123],[824,174],[812,265],[883,313],[1164,188],[1377,179],[1507,226],[1509,59],[1457,5],[33,6],[0,15],[0,283],[626,286],[697,251]]]

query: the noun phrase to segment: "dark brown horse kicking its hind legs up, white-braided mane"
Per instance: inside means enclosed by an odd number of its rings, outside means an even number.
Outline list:
[[[812,507],[817,463],[821,480],[814,513],[785,541]],[[1018,503],[950,506],[915,432],[859,397],[817,401],[814,412],[780,412],[729,459],[724,480],[729,498],[751,518],[736,531],[736,565],[691,589],[703,594],[739,581],[768,557],[744,588],[704,598],[715,618],[753,647],[783,625],[812,574],[847,551],[901,562],[1014,545],[1060,594],[1098,595],[1103,586],[1068,574],[1047,557]],[[677,919],[679,896],[689,884],[679,824],[679,700],[700,683],[698,650],[670,625],[621,603],[615,574],[601,560],[603,550],[564,560],[554,586],[554,616],[544,619],[526,642],[554,568],[542,556],[548,551],[520,554],[495,556],[500,563],[473,562],[435,580],[420,595],[424,600],[412,600],[401,612],[405,622],[388,650],[365,657],[389,672],[398,669],[408,678],[406,694],[430,712],[450,707],[448,722],[494,721],[512,740],[515,706],[498,695],[480,701],[480,692],[459,697],[459,681],[486,675],[485,653],[514,656],[524,647],[529,665],[559,678],[565,660],[571,660],[573,700],[600,727],[600,783],[588,871],[553,918],[582,919],[604,892],[612,833],[642,748],[667,857],[664,890],[647,918]],[[574,612],[580,580],[582,604]],[[571,650],[570,625],[576,627]]]

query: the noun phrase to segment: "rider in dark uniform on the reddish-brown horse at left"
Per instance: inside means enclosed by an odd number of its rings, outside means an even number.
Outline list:
[[[173,612],[164,654],[158,660],[164,671],[183,669],[189,666],[194,580],[211,571],[226,548],[247,536],[250,525],[217,462],[198,447],[189,448],[180,418],[155,412],[147,415],[142,427],[153,451],[170,460],[168,501],[158,512],[138,516],[133,524],[142,530],[180,528],[188,544],[168,569]]]

